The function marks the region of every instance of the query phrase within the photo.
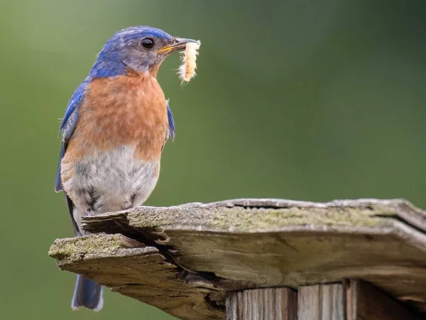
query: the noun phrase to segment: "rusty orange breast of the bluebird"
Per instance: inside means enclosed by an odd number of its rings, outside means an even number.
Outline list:
[[[65,157],[136,145],[136,158],[153,161],[160,158],[167,129],[165,97],[155,78],[131,74],[95,79],[87,87]]]

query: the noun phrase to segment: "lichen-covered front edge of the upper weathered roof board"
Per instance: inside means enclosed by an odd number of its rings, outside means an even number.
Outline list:
[[[217,203],[187,203],[171,207],[133,208],[83,218],[88,231],[103,228],[168,228],[210,232],[273,232],[302,226],[342,228],[384,228],[389,219],[402,220],[426,230],[426,213],[408,201],[341,200],[329,203],[280,199],[236,199]],[[112,221],[116,225],[104,221]],[[355,230],[354,230],[355,231]]]

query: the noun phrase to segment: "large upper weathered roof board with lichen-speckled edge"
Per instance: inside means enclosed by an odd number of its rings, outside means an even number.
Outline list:
[[[142,242],[149,235],[149,245],[177,248],[181,265],[231,282],[298,287],[364,279],[426,311],[426,236],[404,223],[420,228],[424,220],[424,211],[402,200],[237,199],[97,215],[84,218],[84,228]]]

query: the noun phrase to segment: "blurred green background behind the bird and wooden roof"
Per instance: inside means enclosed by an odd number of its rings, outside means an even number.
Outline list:
[[[71,311],[75,275],[48,257],[72,235],[53,192],[58,119],[115,31],[150,25],[202,41],[159,82],[176,139],[146,204],[237,197],[403,197],[426,208],[426,2],[0,2],[1,319],[173,319],[119,294]]]

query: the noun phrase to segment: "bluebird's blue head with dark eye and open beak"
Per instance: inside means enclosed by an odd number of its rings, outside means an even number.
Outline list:
[[[125,75],[130,71],[155,77],[163,60],[183,50],[192,39],[176,38],[149,26],[131,27],[114,34],[97,56],[91,71],[94,78]]]

